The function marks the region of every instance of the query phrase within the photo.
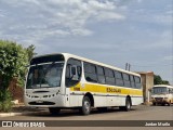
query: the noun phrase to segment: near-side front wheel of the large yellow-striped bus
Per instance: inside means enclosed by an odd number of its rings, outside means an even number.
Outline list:
[[[91,101],[89,96],[83,98],[81,113],[83,115],[89,115],[91,113]]]

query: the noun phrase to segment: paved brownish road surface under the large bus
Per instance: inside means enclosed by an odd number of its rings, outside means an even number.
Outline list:
[[[13,117],[3,117],[0,120],[173,120],[173,105],[172,106],[148,106],[148,105],[139,105],[133,106],[131,112],[122,112],[119,108],[109,109],[106,113],[99,113],[96,109],[93,109],[91,115],[82,116],[78,110],[62,110],[59,115],[51,115],[48,109],[42,109],[41,112],[37,112],[34,114],[27,114],[22,116],[13,116]],[[86,122],[86,121],[85,121]],[[150,121],[149,121],[150,122]],[[104,123],[104,121],[103,121]],[[68,123],[67,123],[68,125]],[[124,125],[125,126],[125,125]],[[125,129],[128,127],[124,127]],[[141,127],[141,129],[144,127]],[[52,128],[55,129],[55,128]],[[69,129],[63,127],[62,129]],[[70,128],[75,129],[75,127]],[[81,129],[81,128],[80,128]],[[85,130],[86,128],[82,128]],[[104,127],[94,127],[95,129],[104,129]],[[108,129],[115,129],[114,127],[108,127]],[[120,127],[122,129],[122,127]],[[136,127],[133,130],[138,130]],[[145,128],[144,128],[145,129]],[[163,129],[163,127],[157,128]],[[164,128],[165,129],[165,128]],[[171,127],[167,128],[171,129]],[[17,129],[18,130],[18,129]],[[130,130],[130,129],[129,129]]]

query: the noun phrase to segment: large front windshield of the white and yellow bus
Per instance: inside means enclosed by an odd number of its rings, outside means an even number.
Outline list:
[[[29,68],[26,89],[61,87],[64,63],[50,63]]]

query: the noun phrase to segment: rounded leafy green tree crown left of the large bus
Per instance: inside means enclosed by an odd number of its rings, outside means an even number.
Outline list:
[[[0,40],[0,75],[3,78],[1,88],[8,89],[9,82],[16,77],[21,84],[27,63],[27,52],[21,44]]]

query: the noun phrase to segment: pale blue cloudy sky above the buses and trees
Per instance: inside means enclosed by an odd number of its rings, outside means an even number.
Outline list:
[[[0,0],[0,39],[129,63],[173,84],[173,0]]]

